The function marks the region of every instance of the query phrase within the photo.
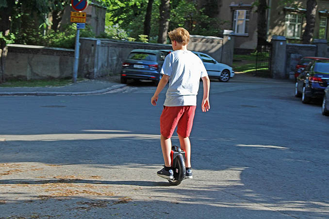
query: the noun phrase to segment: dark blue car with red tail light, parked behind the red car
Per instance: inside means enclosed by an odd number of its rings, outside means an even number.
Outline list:
[[[295,96],[302,97],[303,103],[313,98],[323,98],[329,85],[329,61],[311,61],[296,78]]]

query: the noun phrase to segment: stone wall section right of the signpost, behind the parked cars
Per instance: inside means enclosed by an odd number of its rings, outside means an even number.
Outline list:
[[[220,63],[231,66],[234,38],[230,31],[224,37],[190,36],[189,50],[207,53]],[[121,64],[133,49],[172,49],[171,45],[127,42],[109,39],[80,38],[80,77],[99,78],[109,74],[119,74]]]

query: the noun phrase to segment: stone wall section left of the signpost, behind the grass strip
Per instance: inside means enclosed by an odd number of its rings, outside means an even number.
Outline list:
[[[9,44],[5,78],[72,77],[74,49]]]

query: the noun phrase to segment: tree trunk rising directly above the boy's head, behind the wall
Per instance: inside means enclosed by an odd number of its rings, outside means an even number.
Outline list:
[[[167,43],[167,34],[170,18],[170,0],[161,0],[158,43]]]

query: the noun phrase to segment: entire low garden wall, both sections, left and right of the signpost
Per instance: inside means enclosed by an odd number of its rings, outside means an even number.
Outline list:
[[[234,38],[190,36],[189,50],[207,53],[220,63],[232,65]],[[121,64],[133,49],[172,49],[171,45],[128,42],[110,39],[80,38],[78,77],[99,78],[118,74]],[[74,49],[28,45],[8,45],[5,78],[71,78]]]

